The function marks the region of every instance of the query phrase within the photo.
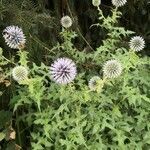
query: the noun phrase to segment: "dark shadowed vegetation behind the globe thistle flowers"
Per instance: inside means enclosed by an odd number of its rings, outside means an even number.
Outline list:
[[[113,8],[110,0],[102,0],[100,7],[106,16]],[[120,26],[143,36],[146,48],[141,53],[150,55],[148,49],[150,47],[150,1],[128,0],[128,3],[119,9],[123,13],[119,21]],[[79,50],[90,51],[89,45],[96,49],[106,38],[105,31],[102,29],[90,28],[98,21],[97,10],[92,6],[91,0],[1,0],[0,33],[9,25],[22,27],[27,37],[26,50],[29,52],[30,61],[37,64],[44,62],[49,65],[48,60],[51,58],[48,58],[48,54],[52,47],[61,41],[59,32],[61,31],[60,19],[63,15],[73,18],[72,30],[79,35],[74,42]],[[17,51],[7,47],[2,34],[0,46],[8,59],[12,58]],[[8,87],[6,90],[4,84],[0,85],[0,90],[4,92],[0,97],[0,109],[6,111],[10,109],[8,104],[13,94],[11,88]],[[11,118],[11,114],[8,115]]]

